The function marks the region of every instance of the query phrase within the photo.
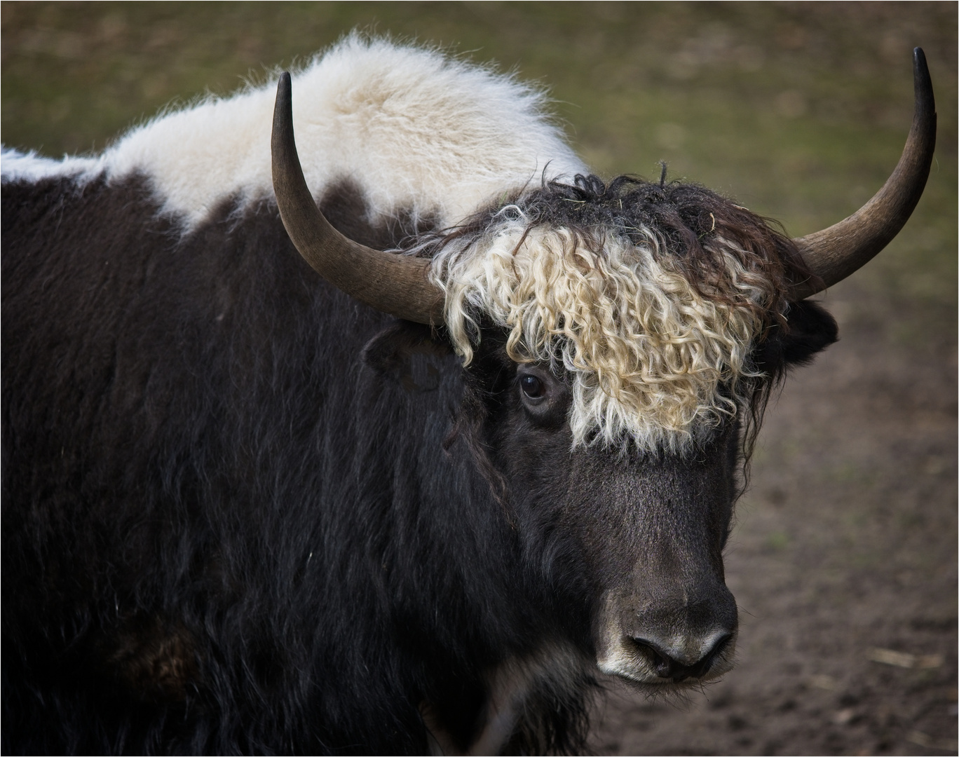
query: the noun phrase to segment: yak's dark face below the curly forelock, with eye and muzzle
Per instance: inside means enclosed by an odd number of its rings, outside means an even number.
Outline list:
[[[489,342],[494,342],[491,338]],[[573,377],[481,349],[464,412],[544,605],[599,668],[638,683],[729,668],[736,604],[722,549],[737,495],[738,423],[692,454],[573,444]]]

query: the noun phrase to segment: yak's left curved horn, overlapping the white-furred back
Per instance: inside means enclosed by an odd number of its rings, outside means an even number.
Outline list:
[[[293,139],[290,74],[276,87],[270,142],[273,191],[280,218],[303,259],[347,295],[400,319],[442,321],[443,296],[430,283],[430,261],[384,252],[347,239],[316,207]]]

